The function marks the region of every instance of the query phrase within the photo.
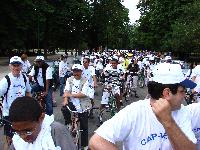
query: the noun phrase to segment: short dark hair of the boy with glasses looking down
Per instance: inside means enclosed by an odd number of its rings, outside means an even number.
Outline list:
[[[9,118],[11,122],[38,121],[42,108],[38,101],[32,97],[18,97],[10,106]]]

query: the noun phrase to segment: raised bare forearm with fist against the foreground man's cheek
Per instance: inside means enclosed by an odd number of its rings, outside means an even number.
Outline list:
[[[165,128],[174,150],[195,150],[196,145],[188,139],[171,116],[171,107],[166,99],[151,101],[152,110]],[[191,131],[192,132],[192,131]]]

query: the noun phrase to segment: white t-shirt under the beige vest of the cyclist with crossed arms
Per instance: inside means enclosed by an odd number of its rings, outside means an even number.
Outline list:
[[[86,95],[86,96],[90,96],[90,91],[91,88],[89,88],[89,84],[88,81],[85,82],[85,84],[83,85],[82,89],[80,89],[80,82],[81,80],[76,80],[73,79],[72,83],[73,85],[71,86],[71,93],[72,94],[77,94],[79,92],[81,92],[82,94]],[[70,91],[70,83],[69,83],[69,78],[66,81],[66,85],[65,85],[65,89],[64,91]],[[80,105],[80,99],[79,98],[74,98],[74,97],[70,97],[71,102],[73,103],[73,105],[76,107],[76,110],[78,112],[81,112],[81,105]]]

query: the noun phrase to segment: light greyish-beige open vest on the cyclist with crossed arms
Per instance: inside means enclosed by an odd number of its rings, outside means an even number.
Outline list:
[[[73,80],[74,80],[74,76],[71,76],[71,77],[68,78],[68,82],[69,82],[69,85],[70,85],[70,91],[69,92],[72,92]],[[80,91],[82,90],[86,81],[87,81],[87,79],[85,79],[85,78],[80,79]],[[86,109],[92,107],[90,98],[88,96],[84,97],[84,98],[79,98],[79,99],[80,99],[80,104],[81,104],[82,110],[86,110]]]

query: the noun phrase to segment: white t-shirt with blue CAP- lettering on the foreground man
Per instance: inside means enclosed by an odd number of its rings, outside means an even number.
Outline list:
[[[183,106],[181,110],[172,112],[172,116],[186,136],[196,143],[188,109]],[[152,111],[149,99],[128,105],[95,132],[111,143],[123,141],[124,150],[172,149],[165,129]]]

